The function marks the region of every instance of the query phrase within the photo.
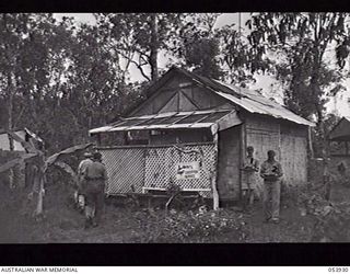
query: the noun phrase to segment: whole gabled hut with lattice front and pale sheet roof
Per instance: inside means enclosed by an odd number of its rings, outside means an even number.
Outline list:
[[[313,123],[257,91],[173,67],[127,117],[90,130],[109,173],[107,194],[164,191],[170,182],[219,202],[241,197],[246,147],[273,149],[284,181],[307,180]]]

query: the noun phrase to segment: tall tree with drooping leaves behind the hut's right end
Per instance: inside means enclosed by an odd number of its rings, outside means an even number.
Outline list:
[[[329,66],[327,54],[332,52],[343,68],[349,54],[346,19],[348,14],[337,12],[261,12],[247,21],[256,56],[272,56],[277,78],[285,85],[285,105],[306,118],[315,115],[318,124],[324,121],[326,98],[343,90],[343,75]]]

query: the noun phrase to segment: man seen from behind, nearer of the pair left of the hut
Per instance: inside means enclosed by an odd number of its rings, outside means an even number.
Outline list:
[[[84,172],[85,195],[85,228],[97,226],[104,208],[104,191],[107,181],[107,171],[102,163],[102,155],[93,153],[93,161],[86,165]]]

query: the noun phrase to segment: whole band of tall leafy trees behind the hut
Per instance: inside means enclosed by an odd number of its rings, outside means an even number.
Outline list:
[[[348,15],[258,13],[247,22],[247,39],[235,25],[217,27],[219,15],[98,13],[96,25],[86,25],[52,14],[1,14],[0,127],[31,128],[49,152],[84,142],[89,128],[144,99],[150,82],[129,83],[130,65],[152,80],[161,54],[176,59],[166,66],[242,85],[256,72],[276,73],[285,104],[324,122],[327,98],[341,92],[343,77],[325,53],[335,44],[330,49],[345,67]]]

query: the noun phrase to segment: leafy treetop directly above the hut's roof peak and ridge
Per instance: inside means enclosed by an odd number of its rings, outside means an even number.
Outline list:
[[[176,56],[177,64],[194,72],[246,85],[255,80],[255,72],[267,70],[268,62],[252,54],[252,47],[237,25],[219,27],[220,15],[188,14],[171,53]]]

